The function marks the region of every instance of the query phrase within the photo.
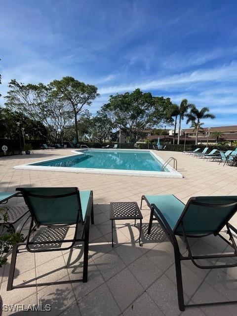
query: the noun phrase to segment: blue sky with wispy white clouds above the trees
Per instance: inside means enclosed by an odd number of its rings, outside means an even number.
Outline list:
[[[2,95],[73,76],[98,87],[92,113],[139,87],[237,124],[236,0],[3,0],[0,58]]]

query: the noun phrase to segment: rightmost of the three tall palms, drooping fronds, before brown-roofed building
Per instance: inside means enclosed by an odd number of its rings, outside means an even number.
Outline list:
[[[209,108],[204,107],[200,111],[196,108],[196,106],[193,104],[192,108],[190,110],[190,113],[187,114],[187,124],[192,122],[192,125],[196,126],[196,142],[197,145],[197,137],[198,137],[198,130],[200,129],[200,126],[203,125],[203,123],[200,122],[201,119],[205,118],[215,118],[214,114],[209,113]]]

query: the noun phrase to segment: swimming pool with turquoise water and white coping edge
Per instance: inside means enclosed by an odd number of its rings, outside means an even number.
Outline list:
[[[15,168],[182,178],[182,175],[169,165],[162,169],[164,161],[149,150],[82,149],[73,153],[77,155]]]

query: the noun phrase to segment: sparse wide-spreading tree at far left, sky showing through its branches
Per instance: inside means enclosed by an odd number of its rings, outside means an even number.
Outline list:
[[[52,95],[51,85],[23,84],[13,79],[8,86],[10,90],[5,96],[6,107],[42,122],[47,127],[51,141],[63,142],[65,128],[72,122],[72,114],[64,102]]]

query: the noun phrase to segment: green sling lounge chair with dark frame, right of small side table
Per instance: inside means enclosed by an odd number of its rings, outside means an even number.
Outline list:
[[[171,241],[174,247],[175,270],[177,281],[178,302],[180,311],[184,311],[185,307],[197,307],[213,305],[214,303],[189,304],[185,305],[183,296],[181,260],[191,260],[193,264],[200,269],[216,269],[237,267],[237,263],[232,264],[215,264],[215,265],[200,265],[201,259],[213,258],[229,258],[237,257],[237,245],[232,231],[237,234],[230,223],[230,219],[237,211],[237,197],[191,197],[187,204],[182,203],[173,195],[162,196],[142,196],[142,201],[145,200],[151,209],[148,234],[151,233],[152,222],[154,219],[158,221],[161,228]],[[155,218],[154,218],[155,216]],[[228,239],[220,235],[220,231],[226,226]],[[227,244],[234,249],[233,253],[220,253],[212,255],[193,255],[191,245],[187,237],[201,238],[208,235],[221,237]],[[187,246],[188,255],[184,256],[179,251],[179,245],[176,236],[184,237]],[[217,304],[226,304],[218,302]],[[237,303],[231,301],[229,303]],[[215,303],[216,304],[216,303]]]

